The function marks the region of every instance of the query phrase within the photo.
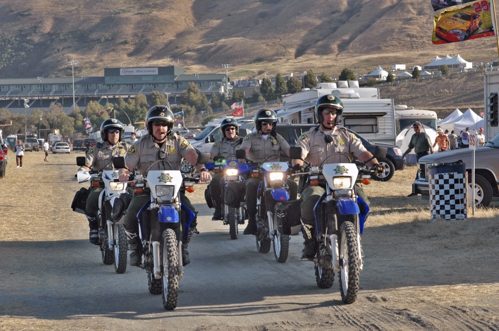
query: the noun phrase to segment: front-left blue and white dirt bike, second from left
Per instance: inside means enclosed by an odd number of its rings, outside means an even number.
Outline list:
[[[209,153],[200,153],[199,164],[210,160]],[[147,202],[137,214],[139,237],[143,254],[141,267],[147,271],[149,292],[163,294],[163,307],[174,310],[177,307],[179,279],[184,277],[182,262],[182,241],[189,237],[189,229],[195,214],[180,202],[180,192],[194,192],[199,178],[182,174],[180,170],[151,170],[145,173],[132,171],[135,193],[149,192]],[[203,163],[202,163],[203,162]],[[115,168],[125,168],[125,159],[113,159]],[[170,164],[169,164],[170,165]],[[171,165],[170,165],[171,167]]]

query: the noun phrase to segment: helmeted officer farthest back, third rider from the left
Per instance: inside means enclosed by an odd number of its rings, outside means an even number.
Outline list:
[[[213,144],[210,156],[212,159],[215,156],[222,156],[226,160],[235,160],[236,150],[241,148],[241,143],[243,142],[243,138],[238,135],[238,121],[234,118],[226,118],[220,123],[220,130],[222,131],[222,139]],[[213,207],[215,207],[212,221],[222,219],[222,191],[220,189],[220,181],[223,177],[223,172],[215,174],[209,186]]]

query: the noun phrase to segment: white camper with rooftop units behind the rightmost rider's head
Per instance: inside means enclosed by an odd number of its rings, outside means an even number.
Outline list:
[[[366,139],[395,143],[395,115],[392,99],[380,99],[376,88],[359,88],[357,81],[319,83],[316,89],[283,96],[283,106],[276,111],[279,122],[313,123],[318,98],[333,94],[341,99],[343,125]]]

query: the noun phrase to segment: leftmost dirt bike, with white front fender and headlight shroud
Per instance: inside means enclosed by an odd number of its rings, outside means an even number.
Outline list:
[[[79,166],[85,165],[85,157],[78,156],[76,163]],[[104,171],[78,171],[78,183],[90,181],[91,188],[102,187],[99,196],[99,210],[97,211],[97,221],[99,224],[99,246],[104,264],[114,264],[116,273],[122,274],[126,271],[128,240],[125,228],[118,224],[120,220],[111,220],[111,209],[122,194],[126,194],[127,185],[118,183],[118,170]],[[120,222],[122,223],[122,221]]]

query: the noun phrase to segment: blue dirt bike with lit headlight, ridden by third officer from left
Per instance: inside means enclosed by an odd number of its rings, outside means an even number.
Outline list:
[[[229,155],[230,156],[230,155]],[[246,179],[244,175],[256,168],[248,163],[239,163],[238,160],[226,160],[222,157],[215,157],[213,165],[207,165],[207,169],[215,173],[224,173],[224,178],[220,181],[220,192],[222,198],[222,221],[224,225],[229,225],[231,239],[238,238],[238,224],[244,224],[248,213],[245,210],[244,196],[241,197],[241,188],[244,190]],[[216,185],[216,183],[215,183]],[[233,192],[233,188],[236,192]]]

